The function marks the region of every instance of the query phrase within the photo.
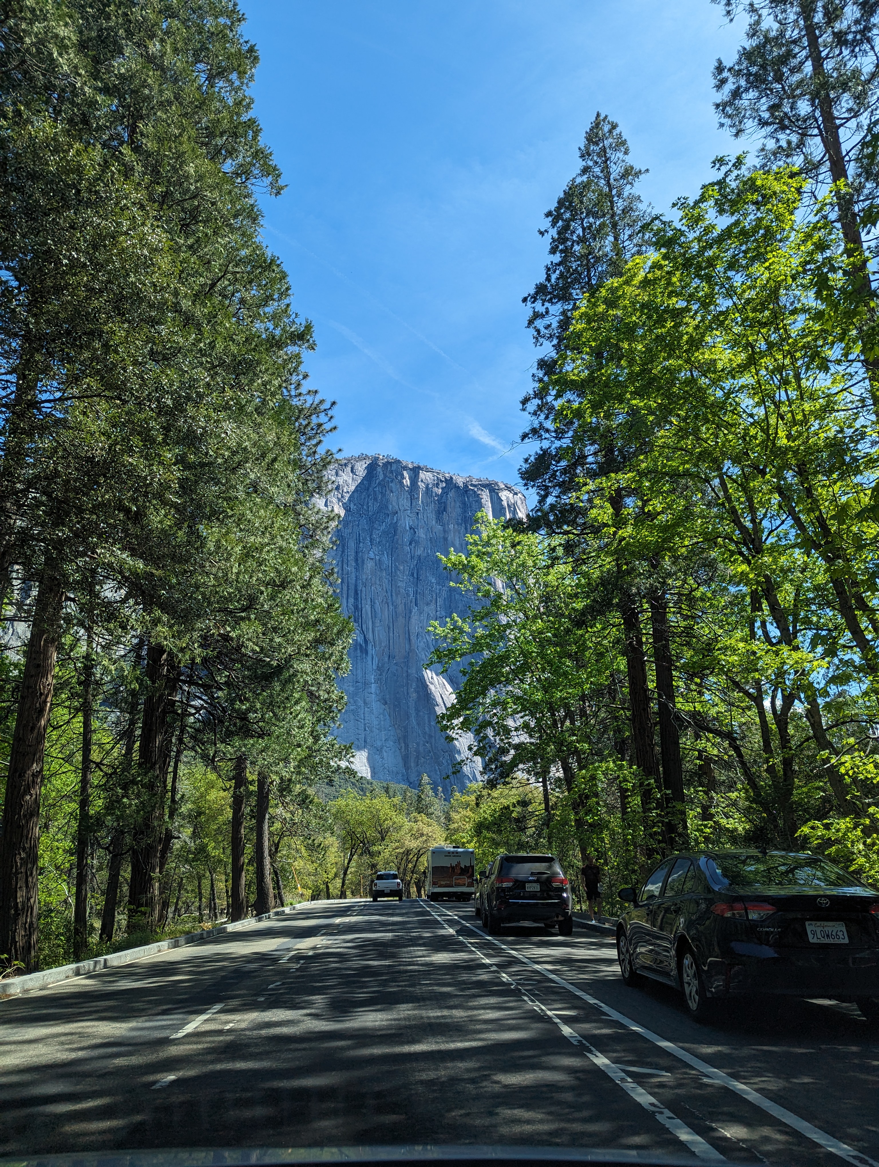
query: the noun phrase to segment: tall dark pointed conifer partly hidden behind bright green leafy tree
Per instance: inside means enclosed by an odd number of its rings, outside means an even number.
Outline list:
[[[647,245],[648,209],[635,189],[646,172],[633,166],[628,158],[629,146],[616,123],[598,113],[580,148],[579,174],[567,184],[554,209],[546,212],[551,226],[542,233],[550,235],[553,258],[546,265],[544,279],[525,298],[532,306],[529,327],[535,343],[546,345],[549,351],[538,358],[535,387],[522,401],[533,419],[523,440],[538,442],[537,453],[524,461],[522,477],[537,490],[535,522],[547,531],[567,533],[574,555],[584,554],[590,540],[607,537],[607,532],[584,529],[584,487],[597,480],[612,481],[625,470],[630,452],[615,441],[612,427],[605,427],[600,436],[595,433],[597,440],[592,442],[568,440],[574,422],[564,410],[563,378],[554,377],[557,355],[564,348],[578,303],[608,279],[621,275],[629,259]],[[619,488],[611,489],[608,501],[618,515],[627,505]],[[646,806],[651,803],[651,791],[662,781],[668,806],[664,830],[667,841],[674,843],[682,830],[681,812],[674,808],[683,804],[684,792],[662,574],[658,572],[651,584],[644,584],[633,575],[625,557],[618,558],[607,586],[622,624],[629,749],[644,778],[642,802]],[[662,769],[654,743],[642,592],[649,593],[654,658],[660,663]]]

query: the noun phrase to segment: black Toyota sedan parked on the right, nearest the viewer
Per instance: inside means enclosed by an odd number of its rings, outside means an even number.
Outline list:
[[[693,1018],[744,993],[857,1001],[879,1019],[879,893],[826,859],[787,851],[664,859],[616,930],[627,985],[678,987]]]

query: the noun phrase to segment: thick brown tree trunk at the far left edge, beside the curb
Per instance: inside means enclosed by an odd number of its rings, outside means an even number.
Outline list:
[[[53,565],[43,568],[21,678],[0,836],[0,956],[36,967],[40,792],[55,687],[64,587]]]

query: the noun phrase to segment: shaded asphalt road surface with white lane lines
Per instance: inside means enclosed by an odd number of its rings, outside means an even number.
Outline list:
[[[777,998],[699,1026],[609,938],[414,900],[0,1001],[0,1155],[413,1142],[879,1167],[879,1032]]]

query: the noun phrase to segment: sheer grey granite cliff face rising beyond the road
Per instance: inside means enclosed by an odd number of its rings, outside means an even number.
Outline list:
[[[351,671],[342,678],[348,705],[340,738],[355,764],[378,782],[434,784],[465,754],[447,742],[437,713],[453,689],[425,671],[433,651],[427,624],[463,614],[467,598],[449,587],[437,558],[466,548],[480,510],[493,518],[525,518],[525,498],[503,482],[442,474],[381,454],[337,460],[323,502],[341,516],[334,551],[342,609],[357,629]],[[459,785],[479,776],[469,762]],[[448,789],[448,784],[446,784]]]

